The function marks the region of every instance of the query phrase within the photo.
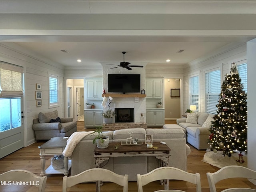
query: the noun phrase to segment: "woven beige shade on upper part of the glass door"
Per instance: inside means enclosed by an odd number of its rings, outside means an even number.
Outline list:
[[[0,61],[0,97],[23,96],[23,67]]]

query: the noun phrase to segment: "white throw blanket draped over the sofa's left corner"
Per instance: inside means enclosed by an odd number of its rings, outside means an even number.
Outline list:
[[[92,134],[93,132],[94,131],[78,131],[72,133],[72,135],[67,140],[67,145],[62,154],[65,157],[72,156],[72,153],[76,148],[76,145],[80,142],[80,140],[82,140],[82,138],[84,138],[86,135]]]

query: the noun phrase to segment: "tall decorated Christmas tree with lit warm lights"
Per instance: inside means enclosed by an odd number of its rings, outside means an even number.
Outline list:
[[[247,152],[247,94],[243,90],[236,65],[232,63],[230,74],[222,83],[217,114],[210,127],[210,149],[223,151],[230,157],[239,152],[240,163],[244,163],[242,152]]]

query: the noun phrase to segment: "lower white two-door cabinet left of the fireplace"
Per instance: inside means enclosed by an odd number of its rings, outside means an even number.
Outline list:
[[[91,128],[102,126],[102,112],[103,110],[84,110],[84,127]]]

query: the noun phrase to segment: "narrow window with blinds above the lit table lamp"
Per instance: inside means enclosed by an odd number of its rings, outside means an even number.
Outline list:
[[[189,97],[190,105],[196,106],[196,111],[199,110],[199,76],[190,77],[189,79]]]

